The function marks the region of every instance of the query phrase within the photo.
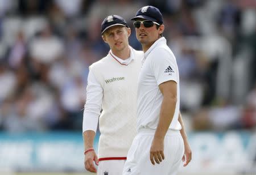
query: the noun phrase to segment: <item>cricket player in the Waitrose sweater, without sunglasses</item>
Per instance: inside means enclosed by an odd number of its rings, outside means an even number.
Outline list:
[[[82,124],[84,165],[100,175],[119,175],[136,135],[138,76],[143,52],[129,46],[131,29],[121,16],[106,17],[101,34],[110,51],[89,67]],[[93,140],[98,118],[101,135],[97,155]]]

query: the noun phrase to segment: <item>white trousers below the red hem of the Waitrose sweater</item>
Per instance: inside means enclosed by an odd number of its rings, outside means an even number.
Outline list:
[[[104,160],[98,164],[97,175],[121,175],[126,160]]]

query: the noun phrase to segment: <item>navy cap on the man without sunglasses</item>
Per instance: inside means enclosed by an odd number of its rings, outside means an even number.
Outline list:
[[[125,19],[123,19],[121,16],[110,15],[110,16],[107,16],[101,23],[101,34],[103,34],[106,31],[106,29],[114,25],[123,25],[125,27],[129,27]]]

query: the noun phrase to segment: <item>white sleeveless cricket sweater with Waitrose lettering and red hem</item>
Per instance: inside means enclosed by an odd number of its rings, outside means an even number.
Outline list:
[[[98,158],[126,157],[137,122],[138,76],[143,52],[131,49],[134,57],[129,65],[122,65],[109,53],[89,69],[103,89],[100,115]]]

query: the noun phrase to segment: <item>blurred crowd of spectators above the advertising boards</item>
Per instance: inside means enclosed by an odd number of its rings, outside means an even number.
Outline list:
[[[0,0],[0,130],[81,130],[102,20],[123,16],[141,50],[130,18],[145,5],[163,12],[189,128],[255,130],[254,0]]]

